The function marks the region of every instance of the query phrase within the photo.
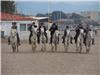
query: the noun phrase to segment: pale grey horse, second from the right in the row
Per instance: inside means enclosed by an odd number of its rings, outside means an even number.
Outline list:
[[[76,42],[76,51],[77,52],[82,52],[82,45],[84,41],[84,29],[79,29],[80,33],[79,36],[77,37],[77,42]]]

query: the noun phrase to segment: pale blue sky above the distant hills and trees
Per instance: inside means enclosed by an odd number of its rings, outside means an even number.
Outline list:
[[[99,1],[15,1],[18,12],[26,15],[63,11],[65,13],[80,11],[100,11]]]

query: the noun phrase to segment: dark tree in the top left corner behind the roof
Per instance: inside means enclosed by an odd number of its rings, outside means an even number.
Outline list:
[[[14,14],[16,12],[16,4],[14,1],[1,1],[1,12]]]

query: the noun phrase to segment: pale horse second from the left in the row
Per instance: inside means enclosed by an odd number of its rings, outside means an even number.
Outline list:
[[[36,42],[37,42],[37,28],[34,28],[32,26],[31,46],[32,46],[33,52],[36,50],[36,47],[37,47]]]

